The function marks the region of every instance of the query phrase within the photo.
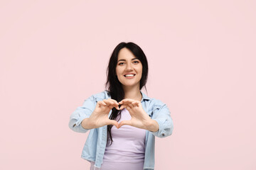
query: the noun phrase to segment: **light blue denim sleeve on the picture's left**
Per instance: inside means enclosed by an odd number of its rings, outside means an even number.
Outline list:
[[[87,98],[82,106],[75,109],[75,111],[70,115],[70,121],[68,127],[75,131],[85,133],[89,129],[82,128],[81,122],[85,118],[89,118],[92,112],[95,110],[96,101],[93,96]]]

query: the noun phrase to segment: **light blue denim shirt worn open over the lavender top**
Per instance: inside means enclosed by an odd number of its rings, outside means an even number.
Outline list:
[[[141,91],[142,93],[142,91]],[[82,128],[81,122],[85,118],[89,118],[91,113],[95,110],[97,101],[111,98],[108,91],[102,91],[87,98],[82,106],[78,107],[71,115],[69,121],[69,128],[75,132],[85,133],[88,130]],[[142,93],[142,108],[149,114],[151,119],[156,120],[159,124],[157,132],[150,132],[146,130],[146,147],[144,157],[144,169],[154,169],[154,144],[156,137],[167,137],[171,135],[174,124],[171,120],[169,108],[166,104],[155,98],[149,98]],[[109,117],[112,111],[109,113]],[[89,162],[95,162],[95,167],[100,168],[102,165],[105,148],[107,145],[107,125],[100,128],[91,129],[82,149],[82,158]]]

